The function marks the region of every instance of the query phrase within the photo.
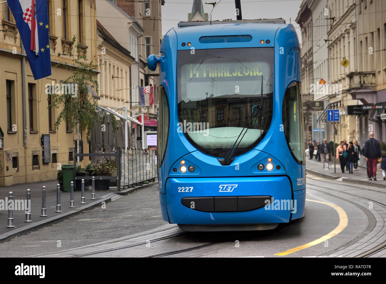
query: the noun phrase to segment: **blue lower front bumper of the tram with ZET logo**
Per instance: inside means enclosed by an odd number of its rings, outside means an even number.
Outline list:
[[[174,224],[288,223],[302,200],[292,200],[286,176],[169,178],[165,199]],[[303,206],[304,207],[304,206]]]

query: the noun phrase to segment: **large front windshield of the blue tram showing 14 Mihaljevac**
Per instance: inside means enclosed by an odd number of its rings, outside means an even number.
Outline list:
[[[271,124],[273,58],[273,48],[179,50],[178,132],[218,158],[236,140],[233,156],[255,147]]]

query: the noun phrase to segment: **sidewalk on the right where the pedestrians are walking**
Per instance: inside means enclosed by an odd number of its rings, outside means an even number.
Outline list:
[[[367,168],[360,167],[358,165],[358,170],[353,173],[349,173],[345,170],[342,173],[340,169],[339,160],[336,161],[336,173],[334,173],[334,159],[331,158],[329,162],[328,170],[325,170],[322,162],[317,162],[314,159],[309,160],[309,156],[306,156],[306,172],[307,176],[318,175],[325,177],[327,179],[340,179],[344,182],[351,182],[354,184],[362,184],[362,185],[372,185],[376,187],[381,187],[386,189],[386,180],[383,180],[382,170],[378,169],[377,171],[377,180],[368,180],[367,179]]]

